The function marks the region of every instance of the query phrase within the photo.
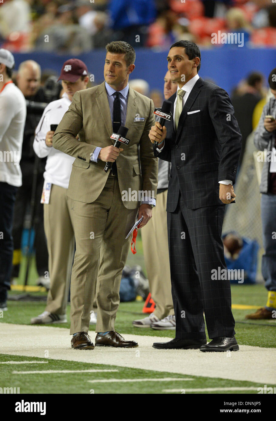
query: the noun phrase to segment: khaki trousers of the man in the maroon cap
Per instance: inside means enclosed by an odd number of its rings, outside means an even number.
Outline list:
[[[52,184],[49,204],[43,206],[50,275],[46,311],[54,314],[66,314],[75,249],[73,203],[67,189]]]

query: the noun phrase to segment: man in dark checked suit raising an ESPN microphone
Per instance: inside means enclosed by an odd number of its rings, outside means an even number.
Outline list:
[[[176,335],[153,347],[236,351],[230,280],[220,273],[226,269],[222,222],[225,204],[236,196],[241,133],[228,94],[198,76],[195,43],[173,44],[167,60],[178,83],[169,99],[174,117],[163,128],[155,123],[149,137],[158,141],[155,155],[171,162],[166,210]]]

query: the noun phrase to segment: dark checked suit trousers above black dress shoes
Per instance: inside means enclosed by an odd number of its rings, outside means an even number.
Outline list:
[[[230,280],[213,280],[213,269],[226,269],[221,239],[225,207],[188,209],[180,196],[167,213],[171,293],[176,338],[233,336]],[[217,278],[217,277],[216,277]]]

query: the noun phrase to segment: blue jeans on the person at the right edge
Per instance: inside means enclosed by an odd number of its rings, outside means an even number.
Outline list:
[[[262,274],[265,280],[265,288],[268,291],[276,291],[276,195],[262,194],[261,216],[263,247],[265,249],[262,257]],[[265,308],[274,310],[271,307]]]

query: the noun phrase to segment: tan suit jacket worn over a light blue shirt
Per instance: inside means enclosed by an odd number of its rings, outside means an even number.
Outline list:
[[[130,188],[131,191],[154,191],[156,197],[158,160],[148,137],[151,126],[155,124],[153,111],[151,99],[129,88],[125,126],[129,129],[126,137],[130,142],[122,146],[123,152],[116,160],[121,195]],[[134,121],[137,115],[145,120]],[[76,158],[67,191],[71,199],[92,203],[99,197],[110,171],[105,173],[105,163],[101,160],[91,162],[90,157],[96,147],[114,144],[110,139],[112,133],[105,82],[76,92],[53,137],[55,149]],[[75,139],[77,134],[79,140]],[[140,202],[129,200],[123,204],[127,209],[135,209]]]

